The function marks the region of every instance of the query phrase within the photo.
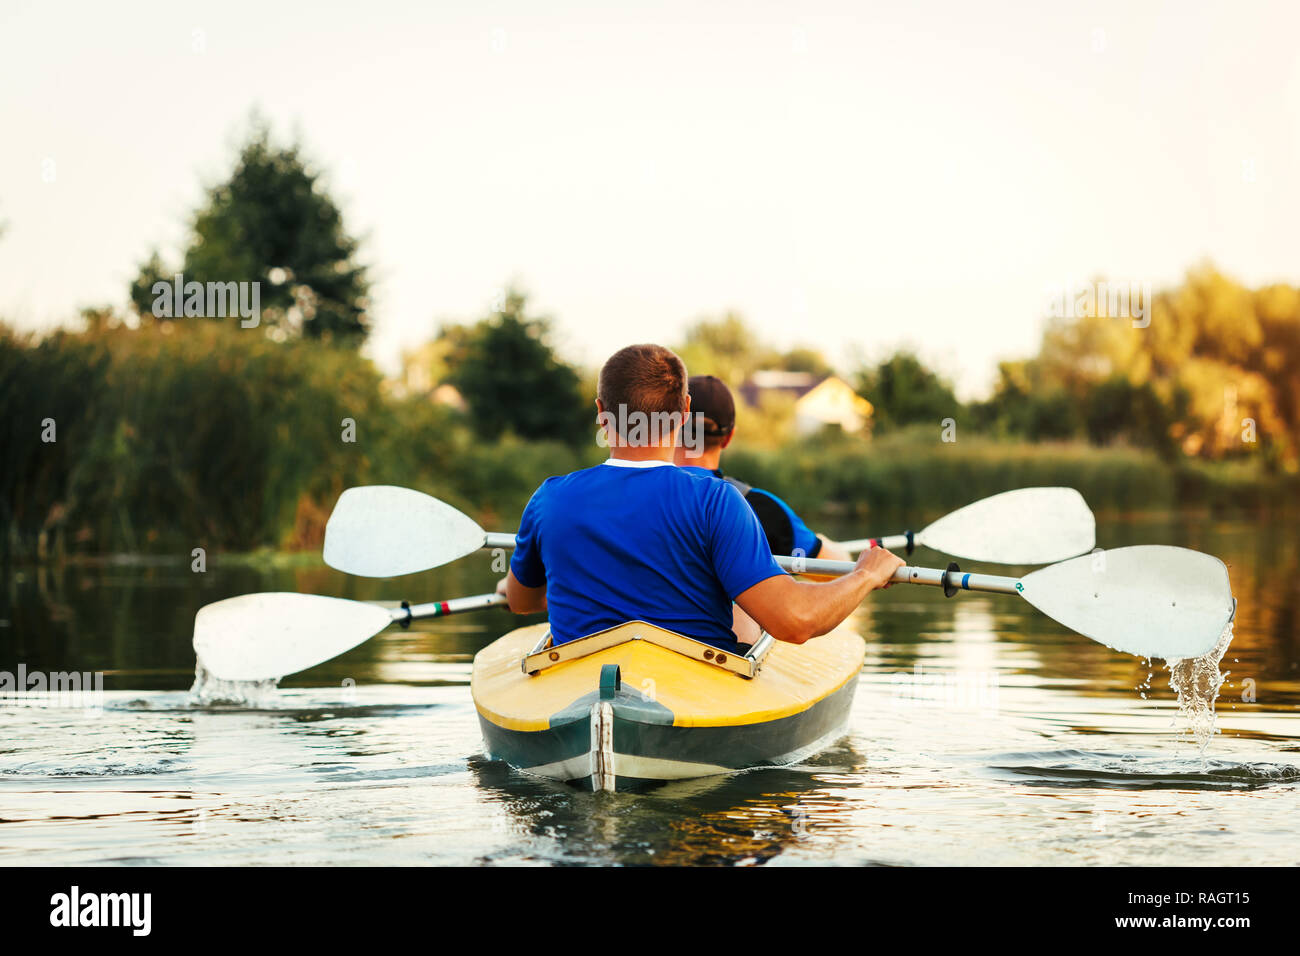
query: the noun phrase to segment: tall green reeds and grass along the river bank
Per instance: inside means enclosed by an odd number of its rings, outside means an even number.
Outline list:
[[[0,557],[318,551],[339,493],[399,484],[486,528],[517,524],[550,475],[594,464],[529,436],[482,441],[468,419],[396,397],[355,352],[273,343],[200,324],[58,333],[0,328]],[[56,441],[44,441],[44,423]],[[936,516],[1027,485],[1078,488],[1100,514],[1171,507],[1271,510],[1300,490],[1251,460],[1026,444],[913,428],[863,441],[823,434],[728,450],[729,473],[810,516]]]

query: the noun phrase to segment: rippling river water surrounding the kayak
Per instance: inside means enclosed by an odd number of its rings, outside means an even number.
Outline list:
[[[0,671],[101,671],[105,689],[0,704],[0,865],[1296,864],[1297,532],[1204,515],[1098,529],[1101,546],[1228,563],[1238,620],[1204,752],[1164,662],[1015,597],[897,585],[858,615],[868,652],[841,743],[646,795],[580,793],[482,756],[469,667],[516,623],[499,610],[387,631],[256,708],[190,698],[204,604],[442,600],[490,589],[488,555],[396,581],[312,559],[20,568]]]

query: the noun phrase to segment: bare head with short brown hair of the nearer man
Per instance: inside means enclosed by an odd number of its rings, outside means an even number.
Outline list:
[[[601,368],[597,421],[611,445],[672,445],[690,408],[686,367],[662,345],[629,345]]]

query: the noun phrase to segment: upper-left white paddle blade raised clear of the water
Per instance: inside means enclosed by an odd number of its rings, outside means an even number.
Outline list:
[[[348,488],[325,524],[325,563],[363,578],[441,567],[484,546],[486,533],[446,502],[396,485]]]

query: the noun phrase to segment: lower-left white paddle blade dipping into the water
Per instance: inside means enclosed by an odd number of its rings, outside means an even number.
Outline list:
[[[316,594],[240,594],[200,607],[194,653],[221,680],[269,680],[315,667],[393,623],[384,607]]]

